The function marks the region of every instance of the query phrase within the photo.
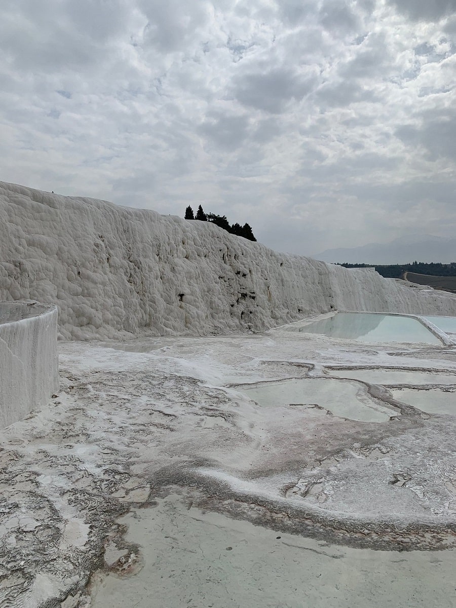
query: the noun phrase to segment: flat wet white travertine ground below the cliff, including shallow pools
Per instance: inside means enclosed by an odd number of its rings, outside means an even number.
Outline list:
[[[454,605],[456,419],[434,395],[456,347],[276,330],[65,343],[60,369],[51,404],[0,433],[0,604],[114,608],[122,588],[122,606]],[[305,398],[245,391],[282,381]]]

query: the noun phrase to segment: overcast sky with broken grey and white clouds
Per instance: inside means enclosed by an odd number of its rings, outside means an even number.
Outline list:
[[[456,233],[456,0],[15,0],[0,179],[248,222],[277,250]]]

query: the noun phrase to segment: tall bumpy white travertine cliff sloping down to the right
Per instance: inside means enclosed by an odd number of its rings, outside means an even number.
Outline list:
[[[4,182],[0,230],[0,298],[54,303],[66,339],[264,330],[334,309],[456,316],[453,294],[417,291],[373,269]]]

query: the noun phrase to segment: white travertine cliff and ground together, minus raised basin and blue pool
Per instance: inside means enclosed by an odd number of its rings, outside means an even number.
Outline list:
[[[57,306],[60,336],[60,388],[0,430],[0,603],[454,604],[454,340],[282,326],[452,294],[11,184],[0,221],[0,298]]]

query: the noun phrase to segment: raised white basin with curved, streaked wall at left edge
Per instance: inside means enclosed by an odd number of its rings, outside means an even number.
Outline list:
[[[0,428],[58,390],[57,308],[0,302]]]

